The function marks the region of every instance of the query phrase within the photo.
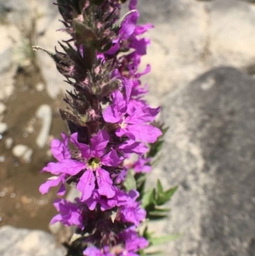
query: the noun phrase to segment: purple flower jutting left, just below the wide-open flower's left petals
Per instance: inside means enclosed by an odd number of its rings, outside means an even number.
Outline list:
[[[64,199],[56,199],[54,207],[58,210],[57,214],[52,220],[51,224],[61,222],[64,225],[77,225],[82,228],[82,211],[77,204],[67,202]]]

